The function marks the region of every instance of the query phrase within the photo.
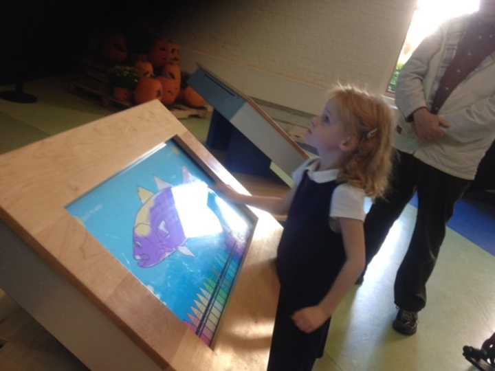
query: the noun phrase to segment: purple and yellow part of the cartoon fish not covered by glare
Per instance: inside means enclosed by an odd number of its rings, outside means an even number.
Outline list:
[[[186,183],[194,181],[186,168],[183,169]],[[134,224],[134,253],[137,265],[153,267],[175,251],[186,256],[194,256],[184,245],[186,234],[182,227],[175,199],[173,186],[155,177],[159,192],[139,188],[139,196],[143,203],[137,212]]]

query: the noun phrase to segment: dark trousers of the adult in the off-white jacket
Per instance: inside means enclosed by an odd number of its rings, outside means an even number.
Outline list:
[[[386,199],[376,201],[371,207],[364,222],[364,233],[367,265],[417,191],[419,204],[415,229],[395,278],[395,304],[399,308],[421,311],[426,305],[426,282],[437,261],[445,225],[454,212],[454,204],[470,183],[397,151],[390,191]]]

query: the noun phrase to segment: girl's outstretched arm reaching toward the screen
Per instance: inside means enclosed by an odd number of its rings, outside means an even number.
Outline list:
[[[296,187],[294,187],[288,190],[283,197],[250,196],[248,194],[240,194],[223,183],[218,183],[214,187],[214,190],[221,192],[223,196],[234,203],[245,203],[266,210],[271,214],[278,215],[287,214],[296,193]]]

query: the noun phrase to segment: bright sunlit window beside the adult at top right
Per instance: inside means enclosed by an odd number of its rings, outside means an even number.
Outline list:
[[[399,72],[426,36],[448,19],[476,12],[478,8],[479,0],[418,0],[387,91],[395,92]]]

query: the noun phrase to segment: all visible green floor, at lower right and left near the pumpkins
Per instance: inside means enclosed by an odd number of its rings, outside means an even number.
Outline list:
[[[25,91],[38,96],[36,104],[0,100],[0,153],[112,113],[94,100],[67,93],[66,87],[64,79],[44,79],[25,85]],[[181,121],[204,142],[208,120]],[[406,207],[364,284],[338,308],[325,357],[315,370],[474,370],[461,352],[463,345],[480,346],[495,331],[495,258],[451,229],[428,283],[428,306],[420,313],[417,335],[403,337],[391,329],[393,280],[415,212]]]

